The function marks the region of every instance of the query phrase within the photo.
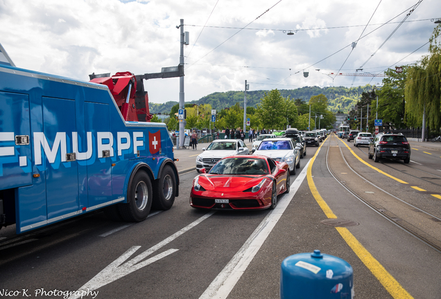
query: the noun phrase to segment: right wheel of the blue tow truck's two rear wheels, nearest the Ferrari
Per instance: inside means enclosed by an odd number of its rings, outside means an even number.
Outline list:
[[[168,210],[175,202],[176,178],[170,166],[165,166],[162,174],[155,183],[155,199],[153,208],[155,210]]]

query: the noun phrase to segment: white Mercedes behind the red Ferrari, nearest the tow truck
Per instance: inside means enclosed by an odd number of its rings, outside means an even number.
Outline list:
[[[225,156],[250,154],[248,147],[241,139],[216,139],[202,148],[202,154],[196,157],[196,171],[202,168],[210,170],[221,158]]]

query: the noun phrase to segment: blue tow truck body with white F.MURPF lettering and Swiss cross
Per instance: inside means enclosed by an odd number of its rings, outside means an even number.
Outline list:
[[[19,69],[0,44],[0,228],[100,208],[142,221],[178,197],[174,161],[164,123],[126,121],[106,85]]]

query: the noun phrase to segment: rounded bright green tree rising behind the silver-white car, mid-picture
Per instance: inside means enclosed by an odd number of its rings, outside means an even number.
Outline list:
[[[257,116],[260,118],[262,128],[275,129],[280,124],[286,123],[286,116],[281,113],[286,108],[285,99],[277,89],[273,89],[261,98],[257,105]]]

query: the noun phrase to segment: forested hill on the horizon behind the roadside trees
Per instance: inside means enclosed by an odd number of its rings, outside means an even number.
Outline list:
[[[364,87],[302,87],[300,89],[280,89],[280,93],[284,98],[290,96],[291,99],[302,99],[308,102],[311,96],[318,96],[324,94],[329,102],[329,110],[337,112],[348,112],[352,106],[361,98],[361,93],[372,91],[372,85],[367,84]],[[260,99],[265,96],[268,91],[247,91],[247,107],[256,107]],[[221,110],[227,107],[232,107],[239,102],[243,106],[243,91],[227,91],[211,93],[208,96],[202,97],[199,100],[194,100],[191,104],[211,104],[211,107],[216,110]],[[150,114],[168,114],[171,107],[178,104],[178,102],[166,102],[164,104],[149,103]]]

